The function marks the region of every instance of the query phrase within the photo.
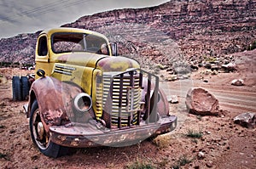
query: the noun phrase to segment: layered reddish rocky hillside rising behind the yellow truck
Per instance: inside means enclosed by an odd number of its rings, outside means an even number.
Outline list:
[[[256,37],[256,0],[172,0],[127,8],[62,25],[99,31],[119,43],[119,54],[142,64],[219,58],[247,49]],[[0,40],[0,61],[33,62],[35,34]],[[148,64],[150,65],[150,64]]]

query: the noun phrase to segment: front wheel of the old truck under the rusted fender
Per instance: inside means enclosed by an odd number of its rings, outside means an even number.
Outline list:
[[[44,130],[43,122],[40,118],[38,109],[38,101],[35,100],[32,104],[32,110],[29,120],[29,127],[32,137],[32,142],[37,145],[38,149],[49,157],[58,157],[66,154],[66,147],[51,142],[49,133]]]

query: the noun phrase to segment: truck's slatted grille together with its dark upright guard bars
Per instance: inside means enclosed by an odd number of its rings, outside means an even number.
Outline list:
[[[147,76],[145,100],[142,100],[143,77]],[[154,76],[154,90],[151,89],[152,74],[134,69],[125,72],[107,72],[102,75],[102,119],[108,128],[122,128],[157,121],[158,76]],[[145,82],[144,82],[145,83]],[[96,91],[98,93],[98,91]],[[100,96],[101,94],[98,94]],[[142,110],[142,105],[146,108]]]

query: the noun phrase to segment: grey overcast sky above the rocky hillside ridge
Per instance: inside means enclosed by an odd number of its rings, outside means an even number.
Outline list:
[[[74,22],[84,15],[145,8],[169,0],[0,0],[0,38],[34,33]]]

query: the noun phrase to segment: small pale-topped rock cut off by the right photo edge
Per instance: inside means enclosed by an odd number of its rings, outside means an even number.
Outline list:
[[[237,115],[234,118],[234,122],[242,127],[254,128],[256,127],[256,113],[247,112]]]

